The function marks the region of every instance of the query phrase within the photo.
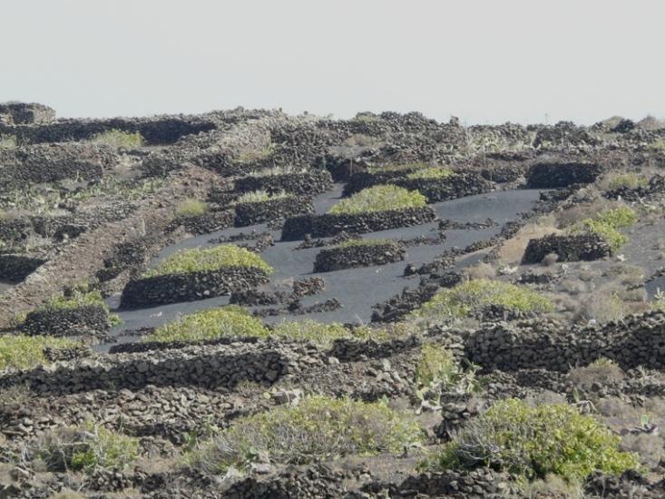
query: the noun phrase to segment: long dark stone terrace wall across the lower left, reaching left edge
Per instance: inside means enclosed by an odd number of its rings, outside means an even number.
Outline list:
[[[245,380],[271,384],[311,363],[323,361],[288,346],[266,343],[192,346],[0,373],[0,387],[27,385],[41,395],[63,395],[147,385],[217,388],[232,387]]]

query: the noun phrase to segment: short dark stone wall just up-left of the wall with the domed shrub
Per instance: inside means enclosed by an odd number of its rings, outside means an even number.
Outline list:
[[[327,170],[311,170],[301,173],[243,177],[236,181],[235,190],[239,192],[267,191],[271,194],[284,191],[315,196],[329,191],[332,183],[332,177]]]

